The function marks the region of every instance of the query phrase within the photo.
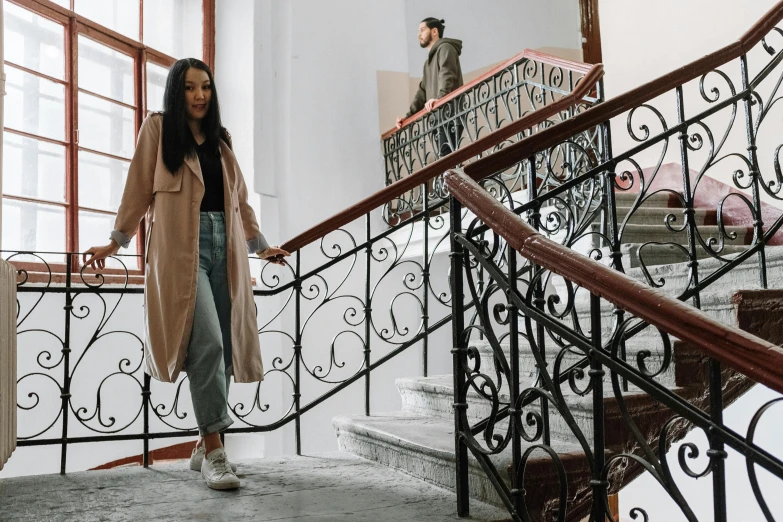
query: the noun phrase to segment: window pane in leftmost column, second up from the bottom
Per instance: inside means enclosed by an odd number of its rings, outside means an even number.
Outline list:
[[[3,192],[65,202],[65,147],[4,133]]]

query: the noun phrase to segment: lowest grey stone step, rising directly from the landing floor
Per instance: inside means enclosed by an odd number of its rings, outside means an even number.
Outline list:
[[[437,486],[455,489],[454,420],[406,412],[340,416],[332,421],[341,451],[373,460]],[[483,439],[480,439],[483,444]],[[522,451],[530,444],[522,441]],[[552,441],[552,448],[566,466],[569,497],[589,487],[589,464],[580,446]],[[506,483],[511,465],[510,445],[490,460]],[[526,499],[529,509],[546,509],[543,499],[559,491],[555,467],[549,456],[536,451],[526,466]],[[500,498],[487,474],[468,452],[470,496],[500,505]],[[550,507],[551,509],[551,507]]]

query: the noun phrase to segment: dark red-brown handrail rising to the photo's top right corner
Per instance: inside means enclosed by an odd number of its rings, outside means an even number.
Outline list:
[[[483,179],[517,163],[520,158],[528,158],[539,151],[547,150],[558,143],[575,136],[580,132],[609,121],[634,107],[646,103],[656,96],[702,76],[731,60],[736,60],[750,51],[766,36],[776,24],[783,20],[783,1],[772,9],[750,28],[736,42],[708,54],[694,62],[676,69],[660,78],[645,83],[635,89],[611,98],[599,105],[571,118],[564,125],[554,125],[533,136],[482,158],[465,167],[465,173],[475,180]]]

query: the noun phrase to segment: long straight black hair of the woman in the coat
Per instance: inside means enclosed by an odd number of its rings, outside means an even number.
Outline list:
[[[231,146],[231,136],[220,121],[220,104],[217,89],[209,66],[196,58],[183,58],[171,66],[166,79],[166,92],[163,94],[163,163],[169,172],[176,174],[186,157],[196,154],[196,140],[188,126],[188,112],[185,106],[185,74],[195,67],[207,73],[212,96],[204,119],[201,120],[201,132],[206,137],[207,146],[220,154],[220,140]]]

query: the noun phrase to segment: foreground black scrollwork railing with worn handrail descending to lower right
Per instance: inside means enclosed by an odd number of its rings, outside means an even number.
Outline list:
[[[697,429],[708,440],[706,467],[693,442],[680,446],[677,459],[690,478],[712,476],[714,519],[727,520],[731,448],[745,459],[757,511],[774,520],[764,492],[783,482],[770,487],[767,480],[762,491],[757,469],[783,480],[783,461],[754,437],[783,398],[758,408],[744,435],[724,422],[723,408],[756,382],[783,392],[783,348],[546,239],[464,174],[450,173],[446,183],[452,212],[464,203],[477,216],[464,232],[455,220],[452,239],[453,295],[465,291],[480,303],[477,321],[468,325],[459,305],[454,309],[460,515],[469,512],[470,452],[514,521],[614,521],[608,495],[641,472],[695,521],[703,499],[684,493],[668,449]],[[483,282],[475,277],[479,267],[488,276]],[[552,294],[556,280],[565,291]],[[625,315],[615,320],[609,306]],[[777,321],[774,314],[768,319]],[[488,356],[480,343],[489,345]],[[637,343],[633,362],[622,350],[630,343]],[[693,373],[689,382],[682,375],[672,381],[675,364],[685,366],[689,351],[709,362],[683,369]],[[526,360],[537,370],[531,377],[520,368]],[[485,411],[489,416],[480,420]],[[650,520],[650,507],[628,512]],[[756,506],[742,511],[755,520]]]

